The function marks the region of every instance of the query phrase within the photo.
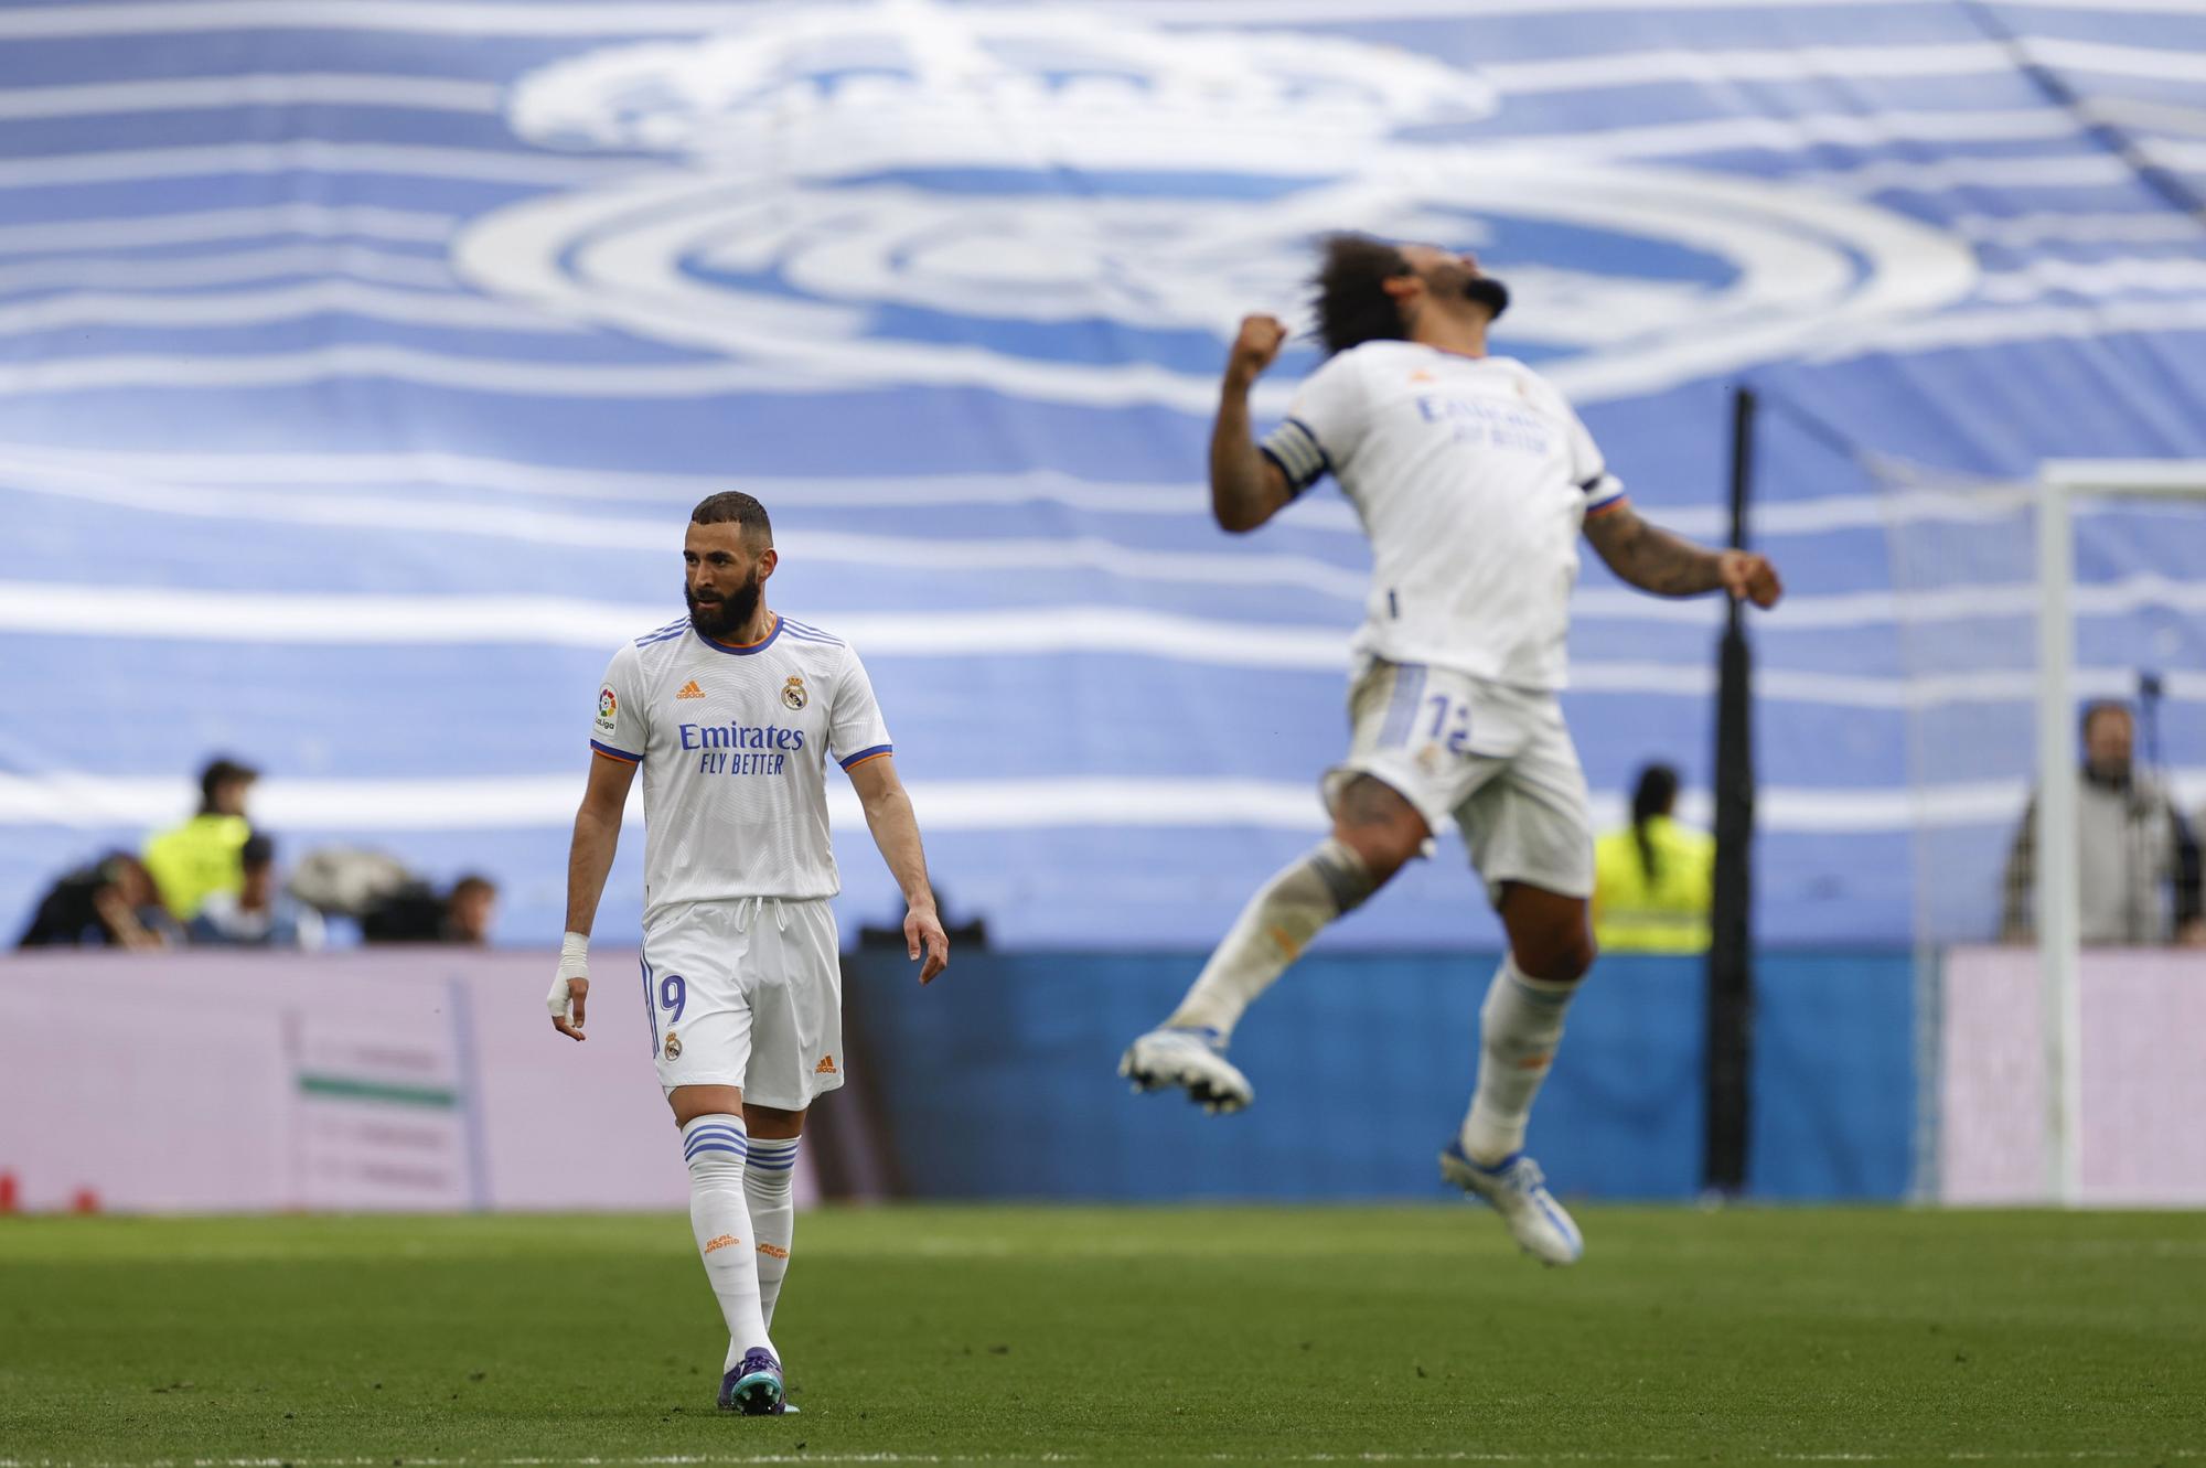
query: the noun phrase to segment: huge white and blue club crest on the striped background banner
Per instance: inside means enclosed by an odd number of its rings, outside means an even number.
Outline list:
[[[759,390],[1198,414],[1242,311],[1299,309],[1321,229],[1478,249],[1513,291],[1500,348],[1577,399],[1974,287],[1966,245],[1899,214],[1626,161],[1593,130],[1480,139],[1498,106],[1476,71],[1343,35],[1057,4],[759,7],[721,35],[523,77],[521,137],[677,163],[496,209],[452,262],[560,317],[752,364]],[[1313,364],[1295,350],[1260,412]]]

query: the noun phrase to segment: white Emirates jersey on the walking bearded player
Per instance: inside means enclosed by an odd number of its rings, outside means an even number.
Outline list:
[[[613,652],[589,747],[644,767],[644,917],[677,902],[834,897],[827,760],[893,754],[840,637],[777,617],[730,648],[688,617]]]

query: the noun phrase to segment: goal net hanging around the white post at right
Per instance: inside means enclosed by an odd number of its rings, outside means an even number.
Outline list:
[[[2206,950],[2171,941],[2171,813],[2195,831],[2206,800],[2206,461],[1877,474],[1908,710],[1917,1195],[2206,1201]],[[2080,774],[2098,701],[2129,714],[2129,785]]]

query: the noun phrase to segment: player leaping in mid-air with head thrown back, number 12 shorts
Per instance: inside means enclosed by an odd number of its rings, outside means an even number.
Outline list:
[[[1227,1060],[1242,1012],[1454,818],[1509,952],[1441,1173],[1493,1203],[1529,1254],[1566,1265],[1584,1241],[1524,1155],[1524,1124],[1593,965],[1586,776],[1555,701],[1577,533],[1657,595],[1727,591],[1767,608],[1782,586],[1765,558],[1688,544],[1632,511],[1562,395],[1487,355],[1509,291],[1471,256],[1341,234],[1324,242],[1315,287],[1326,361],[1262,443],[1249,390],[1286,326],[1242,320],[1211,432],[1211,511],[1253,531],[1330,472],[1370,536],[1348,758],[1324,778],[1332,835],[1249,902],[1118,1073],[1143,1091],[1180,1087],[1211,1111],[1246,1107],[1255,1091]]]

